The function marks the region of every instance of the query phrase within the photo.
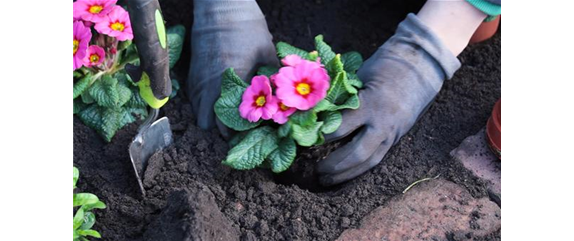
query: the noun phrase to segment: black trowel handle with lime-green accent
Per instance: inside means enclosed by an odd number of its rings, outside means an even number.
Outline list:
[[[159,2],[158,0],[128,0],[128,11],[141,63],[139,70],[131,71],[137,72],[135,76],[139,74],[139,78],[136,77],[134,80],[140,80],[146,74],[155,99],[166,100],[172,90],[169,78],[167,34]]]

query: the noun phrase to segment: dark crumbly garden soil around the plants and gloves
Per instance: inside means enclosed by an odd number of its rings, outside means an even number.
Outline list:
[[[370,56],[423,0],[259,1],[276,41],[312,49],[324,34],[337,52]],[[333,3],[331,3],[333,2]],[[161,1],[168,25],[191,27],[192,1]],[[187,75],[190,39],[176,66]],[[291,170],[234,171],[220,164],[227,152],[217,131],[197,128],[184,93],[162,108],[170,118],[175,144],[151,158],[141,199],[131,174],[127,147],[137,124],[111,143],[73,118],[73,162],[79,190],[98,195],[107,209],[97,211],[94,229],[102,240],[334,240],[343,230],[412,182],[441,175],[487,196],[485,185],[449,152],[486,124],[500,96],[501,38],[471,46],[459,57],[462,68],[445,82],[429,111],[384,160],[348,183],[322,188],[313,166],[339,144],[300,150]],[[183,81],[182,81],[183,82]],[[183,88],[184,89],[184,88]],[[494,239],[494,238],[493,238]]]

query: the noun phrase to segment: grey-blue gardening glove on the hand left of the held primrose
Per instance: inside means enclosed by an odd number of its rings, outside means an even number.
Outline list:
[[[234,68],[248,80],[262,65],[279,65],[265,16],[255,0],[194,0],[192,56],[187,93],[197,124],[215,127],[221,76]],[[227,128],[218,123],[224,136]]]

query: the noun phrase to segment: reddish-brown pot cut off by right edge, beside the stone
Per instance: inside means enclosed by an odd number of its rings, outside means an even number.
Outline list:
[[[486,141],[490,149],[504,160],[504,133],[500,123],[500,99],[494,105],[492,113],[486,122]]]

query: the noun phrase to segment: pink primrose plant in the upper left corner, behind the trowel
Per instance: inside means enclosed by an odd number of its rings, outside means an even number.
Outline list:
[[[123,126],[148,114],[138,93],[142,81],[135,83],[125,70],[127,64],[139,65],[139,56],[129,14],[116,2],[73,3],[73,114],[108,142]],[[180,57],[184,36],[182,25],[167,30],[170,68]],[[173,98],[179,84],[174,76],[171,80]]]

